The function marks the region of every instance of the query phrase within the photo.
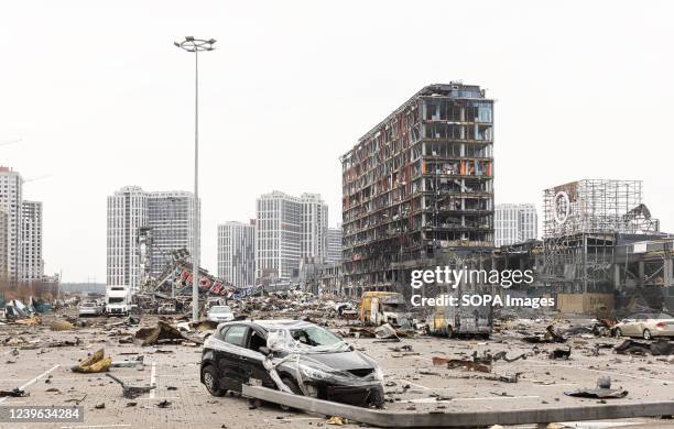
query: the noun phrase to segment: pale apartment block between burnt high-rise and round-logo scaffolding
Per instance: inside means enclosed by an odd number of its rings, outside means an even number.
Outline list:
[[[523,243],[537,237],[539,216],[534,205],[497,205],[493,219],[497,246]]]

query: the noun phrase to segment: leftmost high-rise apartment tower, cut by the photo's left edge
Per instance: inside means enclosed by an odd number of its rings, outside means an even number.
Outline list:
[[[8,280],[21,279],[22,244],[21,211],[23,178],[18,172],[0,166],[0,210],[7,213],[7,245],[4,255]]]

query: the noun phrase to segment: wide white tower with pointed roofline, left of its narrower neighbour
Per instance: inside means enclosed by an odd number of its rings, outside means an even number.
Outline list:
[[[256,207],[256,278],[296,277],[302,254],[302,200],[274,190]]]

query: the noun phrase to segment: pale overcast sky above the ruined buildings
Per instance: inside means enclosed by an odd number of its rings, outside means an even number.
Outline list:
[[[193,187],[202,58],[205,266],[216,226],[272,189],[340,219],[339,155],[432,82],[487,88],[497,202],[581,178],[644,182],[674,230],[666,1],[13,1],[0,6],[0,165],[44,201],[46,272],[106,274],[106,196]]]

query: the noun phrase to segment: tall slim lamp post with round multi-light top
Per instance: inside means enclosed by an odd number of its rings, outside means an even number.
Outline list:
[[[199,52],[213,51],[215,38],[186,36],[173,42],[183,51],[194,53],[194,240],[192,250],[192,320],[199,318]]]

